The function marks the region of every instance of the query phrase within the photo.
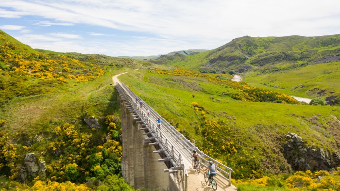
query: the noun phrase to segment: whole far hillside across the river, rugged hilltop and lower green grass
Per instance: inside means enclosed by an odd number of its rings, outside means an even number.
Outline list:
[[[293,96],[321,96],[328,104],[334,105],[340,103],[337,85],[340,84],[339,59],[340,35],[337,34],[318,37],[244,36],[203,53],[162,56],[153,62],[203,73],[238,73],[255,87],[268,86]]]

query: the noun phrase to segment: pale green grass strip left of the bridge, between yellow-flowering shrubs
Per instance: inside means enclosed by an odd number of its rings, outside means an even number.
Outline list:
[[[107,103],[116,97],[114,87],[110,85],[113,83],[111,77],[123,71],[108,70],[98,80],[72,81],[49,94],[14,98],[0,112],[6,120],[5,128],[11,132],[39,131],[41,129],[35,129],[39,127],[37,124],[79,122],[79,116],[86,111],[89,116],[107,115],[117,110],[117,106]],[[95,102],[99,105],[94,106]]]

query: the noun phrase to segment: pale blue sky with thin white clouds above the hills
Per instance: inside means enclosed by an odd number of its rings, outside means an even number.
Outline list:
[[[0,30],[32,48],[151,56],[340,34],[340,0],[0,0]]]

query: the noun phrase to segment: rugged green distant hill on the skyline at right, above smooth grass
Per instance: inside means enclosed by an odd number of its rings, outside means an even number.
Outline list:
[[[219,48],[183,57],[180,62],[174,63],[176,55],[172,55],[174,58],[168,57],[171,55],[153,62],[218,73],[230,70],[244,72],[265,66],[267,71],[261,72],[268,72],[268,69],[275,71],[282,67],[279,64],[288,64],[285,67],[289,69],[309,63],[339,60],[340,34],[317,37],[243,36]]]

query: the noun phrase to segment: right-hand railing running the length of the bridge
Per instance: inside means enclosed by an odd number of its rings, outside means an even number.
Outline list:
[[[126,93],[129,94],[130,100],[132,100],[132,102],[135,103],[135,106],[136,106],[137,109],[140,109],[140,107],[137,106],[137,103],[135,102],[135,100],[133,100],[133,98],[138,98],[138,100],[141,100],[141,101],[143,101],[143,100],[139,96],[137,96],[134,92],[132,92],[124,83],[121,83],[120,87],[123,90],[127,91]],[[216,169],[219,171],[218,175],[220,175],[221,177],[226,179],[228,181],[228,185],[231,186],[231,175],[232,175],[233,169],[225,166],[221,162],[219,162],[219,161],[211,158],[210,156],[204,154],[200,149],[198,149],[198,147],[196,147],[193,143],[191,143],[190,140],[188,140],[184,135],[182,135],[178,130],[176,130],[175,127],[171,126],[170,123],[167,122],[166,119],[164,119],[160,114],[158,114],[156,111],[154,111],[152,109],[152,107],[150,107],[145,101],[143,101],[143,105],[144,105],[145,108],[150,109],[150,113],[153,116],[155,116],[156,118],[162,119],[162,127],[166,127],[168,132],[170,132],[174,137],[176,137],[178,139],[178,141],[180,141],[179,143],[181,143],[183,148],[185,148],[187,150],[187,153],[190,157],[192,156],[192,151],[196,150],[201,157],[201,162],[205,163],[205,164],[201,163],[204,166],[207,166],[207,164],[209,163],[209,160],[214,161],[215,164],[216,164]],[[143,113],[141,110],[140,110],[140,112]],[[228,170],[228,172],[227,172],[227,170]]]

